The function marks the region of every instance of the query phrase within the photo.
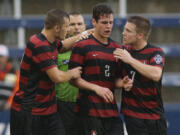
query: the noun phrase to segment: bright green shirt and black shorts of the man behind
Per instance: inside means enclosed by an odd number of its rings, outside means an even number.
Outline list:
[[[71,51],[58,55],[58,68],[60,70],[68,70],[70,56]],[[75,119],[74,108],[77,94],[78,88],[72,86],[69,82],[56,84],[58,112],[65,127],[66,135],[71,135],[72,132],[71,128],[73,120]]]

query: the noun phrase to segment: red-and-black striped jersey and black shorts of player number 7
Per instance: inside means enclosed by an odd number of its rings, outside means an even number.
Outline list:
[[[143,49],[128,49],[132,57],[142,63],[164,67],[164,52],[147,44]],[[122,75],[134,80],[131,91],[122,91],[121,112],[125,115],[129,135],[165,135],[166,122],[161,96],[162,78],[155,82],[146,78],[133,67],[123,64]]]

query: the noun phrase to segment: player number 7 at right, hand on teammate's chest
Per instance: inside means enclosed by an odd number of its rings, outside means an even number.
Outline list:
[[[121,112],[128,135],[166,135],[161,96],[164,52],[148,43],[151,24],[141,16],[130,17],[123,30],[126,49],[117,49],[116,58],[124,63],[123,74],[132,77],[133,87],[122,92]]]

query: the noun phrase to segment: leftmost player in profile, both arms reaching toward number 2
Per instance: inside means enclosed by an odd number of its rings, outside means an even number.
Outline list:
[[[69,15],[48,11],[41,33],[30,37],[20,66],[19,90],[11,109],[11,135],[64,135],[57,113],[55,83],[80,77],[81,68],[58,70],[58,51],[67,51],[82,34],[63,40]],[[62,42],[60,40],[63,40]]]

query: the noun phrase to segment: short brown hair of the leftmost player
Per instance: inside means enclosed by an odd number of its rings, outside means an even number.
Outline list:
[[[64,18],[69,19],[69,15],[60,9],[51,9],[47,12],[45,18],[45,29],[51,29],[55,25],[62,25],[64,23]]]

